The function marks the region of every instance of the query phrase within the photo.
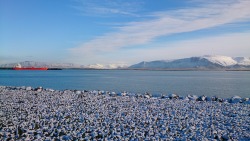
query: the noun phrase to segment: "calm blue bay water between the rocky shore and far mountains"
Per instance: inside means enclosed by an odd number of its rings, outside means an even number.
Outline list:
[[[0,70],[0,85],[250,97],[249,71]]]

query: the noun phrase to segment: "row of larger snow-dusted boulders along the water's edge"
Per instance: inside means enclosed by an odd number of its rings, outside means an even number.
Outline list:
[[[1,86],[0,89],[9,89],[9,90],[26,90],[26,91],[34,91],[34,92],[59,92],[59,93],[64,93],[65,91],[73,92],[76,94],[84,94],[84,93],[89,93],[93,95],[109,95],[109,96],[129,96],[129,97],[136,97],[136,98],[155,98],[155,99],[170,99],[170,100],[193,100],[193,101],[215,101],[215,102],[221,102],[221,103],[245,103],[245,104],[250,104],[250,97],[246,98],[241,98],[240,96],[233,96],[233,97],[228,97],[228,98],[222,98],[217,95],[214,96],[206,96],[206,95],[187,95],[187,96],[181,96],[178,94],[161,94],[160,96],[154,96],[151,93],[145,92],[144,94],[142,93],[133,93],[133,92],[111,92],[111,91],[105,91],[105,90],[71,90],[71,89],[65,89],[65,90],[54,90],[51,88],[43,88],[41,86],[33,88],[31,86]]]

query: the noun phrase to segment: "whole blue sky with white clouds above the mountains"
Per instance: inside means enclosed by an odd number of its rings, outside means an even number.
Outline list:
[[[250,57],[250,0],[0,0],[0,64]]]

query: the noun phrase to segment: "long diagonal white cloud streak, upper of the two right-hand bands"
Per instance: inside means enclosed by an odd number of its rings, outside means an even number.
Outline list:
[[[72,48],[71,52],[74,55],[98,58],[103,54],[119,52],[121,48],[149,43],[160,36],[249,21],[250,1],[238,0],[231,2],[224,2],[223,4],[209,3],[198,8],[152,13],[149,20],[127,23],[125,26],[119,27],[116,32],[107,33]],[[203,42],[202,44],[207,43]],[[157,53],[158,51],[154,51],[155,49],[152,49],[152,51]],[[187,47],[182,49],[186,50]]]

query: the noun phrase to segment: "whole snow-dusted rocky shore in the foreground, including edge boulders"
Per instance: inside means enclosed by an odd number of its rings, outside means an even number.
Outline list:
[[[0,86],[0,140],[250,140],[249,98]]]

